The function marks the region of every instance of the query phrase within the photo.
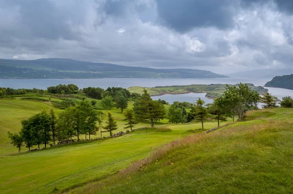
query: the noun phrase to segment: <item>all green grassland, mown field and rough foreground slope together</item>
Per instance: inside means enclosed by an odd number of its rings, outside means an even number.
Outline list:
[[[23,148],[22,154],[8,155],[16,154],[17,148],[9,144],[7,131],[19,131],[21,120],[50,108],[50,102],[0,100],[1,194],[264,193],[266,189],[285,193],[292,189],[292,109],[252,111],[245,122],[230,123],[207,135],[198,130],[201,123],[175,125],[165,120],[156,126],[171,130],[138,130],[119,138],[32,153],[24,153]],[[125,131],[120,110],[110,111],[118,122],[117,132]],[[205,123],[205,128],[216,124]],[[146,168],[141,170],[142,164]]]

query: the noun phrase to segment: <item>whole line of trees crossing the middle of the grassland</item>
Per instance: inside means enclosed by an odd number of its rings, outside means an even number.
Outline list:
[[[167,118],[169,123],[200,122],[202,129],[204,129],[204,123],[211,119],[216,120],[218,126],[228,117],[233,120],[234,117],[237,117],[238,121],[242,121],[244,113],[251,109],[257,109],[259,102],[264,103],[263,108],[276,106],[271,94],[266,93],[260,97],[246,84],[240,83],[238,87],[228,85],[226,87],[226,91],[211,104],[206,105],[199,98],[194,104],[174,102],[168,110],[159,101],[152,100],[147,90],[144,89],[143,94],[135,99],[133,109],[127,108],[127,100],[126,103],[122,103],[125,106],[119,106],[121,112],[126,109],[124,116],[127,123],[124,128],[130,128],[132,131],[138,122],[149,122],[153,127],[154,123]],[[131,94],[120,88],[109,88],[106,91],[104,99],[117,98],[121,100],[131,97]],[[36,145],[40,149],[41,144],[44,144],[46,148],[49,142],[55,145],[56,141],[72,140],[73,137],[77,137],[77,140],[80,141],[82,135],[85,136],[85,140],[87,137],[90,139],[91,135],[97,135],[99,131],[101,138],[102,132],[109,132],[109,135],[112,136],[112,132],[118,129],[117,122],[111,113],[108,113],[106,125],[103,125],[104,113],[96,110],[94,104],[87,100],[77,102],[74,106],[65,108],[58,117],[55,116],[53,109],[49,112],[44,110],[22,121],[19,133],[8,132],[8,136],[11,143],[18,147],[19,152],[24,144],[29,150]],[[293,107],[293,99],[284,97],[280,104],[282,107]],[[189,112],[187,112],[186,106],[188,106]]]

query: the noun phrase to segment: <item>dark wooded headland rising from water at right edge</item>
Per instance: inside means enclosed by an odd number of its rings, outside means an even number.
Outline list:
[[[293,74],[275,76],[271,81],[266,83],[265,87],[293,89]]]

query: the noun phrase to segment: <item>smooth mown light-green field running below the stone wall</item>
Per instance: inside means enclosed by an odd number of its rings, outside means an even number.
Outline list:
[[[50,104],[50,103],[49,103]],[[29,100],[0,100],[0,193],[51,193],[56,187],[64,190],[74,186],[104,178],[137,159],[146,157],[154,148],[166,142],[185,136],[189,129],[200,128],[199,123],[170,125],[170,132],[135,132],[120,138],[105,141],[93,141],[64,147],[55,147],[41,152],[3,156],[16,153],[17,149],[9,144],[7,131],[21,129],[21,120],[49,110],[46,102]],[[132,103],[129,103],[129,107]],[[56,113],[61,110],[55,109]],[[106,113],[107,111],[105,111]],[[118,122],[118,131],[123,129],[125,121],[119,109],[110,110]],[[167,123],[167,121],[163,121]],[[206,127],[216,123],[207,123]],[[137,127],[148,126],[139,123]],[[162,124],[161,124],[162,125]],[[107,136],[108,133],[103,133]],[[84,138],[84,137],[82,137]],[[27,149],[23,148],[22,152]]]

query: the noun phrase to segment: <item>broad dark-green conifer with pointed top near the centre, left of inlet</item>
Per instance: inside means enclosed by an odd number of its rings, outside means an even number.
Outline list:
[[[133,111],[138,121],[150,121],[151,127],[154,126],[154,121],[166,116],[165,107],[153,101],[145,88],[142,96],[134,103]]]

